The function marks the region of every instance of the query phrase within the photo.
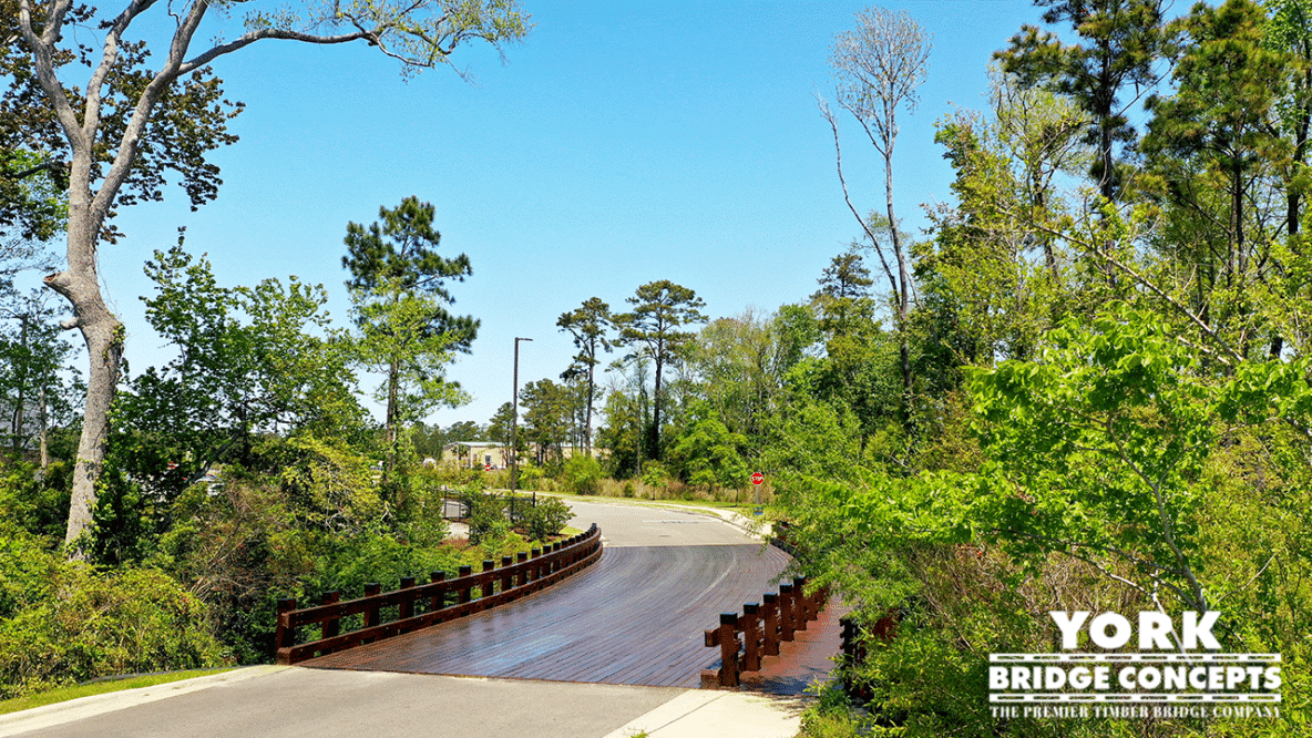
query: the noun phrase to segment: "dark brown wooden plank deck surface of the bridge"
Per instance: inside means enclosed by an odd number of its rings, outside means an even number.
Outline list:
[[[720,612],[775,591],[773,546],[617,546],[523,600],[300,666],[698,687]]]

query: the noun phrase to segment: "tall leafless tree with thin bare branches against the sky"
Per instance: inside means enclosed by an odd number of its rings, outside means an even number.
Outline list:
[[[908,113],[916,110],[918,102],[916,88],[925,81],[929,71],[930,46],[929,34],[905,12],[893,13],[884,8],[872,7],[857,13],[854,30],[841,33],[834,38],[833,51],[829,55],[838,106],[857,118],[875,151],[884,159],[884,204],[888,210],[887,243],[897,260],[896,277],[888,267],[884,239],[876,236],[871,227],[871,219],[862,218],[851,204],[848,181],[842,175],[838,118],[829,108],[828,101],[819,100],[820,112],[833,130],[833,147],[838,162],[842,197],[870,239],[870,247],[879,255],[879,261],[888,276],[890,289],[892,289],[900,337],[903,391],[908,398],[911,397],[912,376],[907,316],[911,313],[912,285],[905,246],[901,234],[897,232],[897,217],[893,215],[893,146],[897,142],[897,109],[905,106]]]

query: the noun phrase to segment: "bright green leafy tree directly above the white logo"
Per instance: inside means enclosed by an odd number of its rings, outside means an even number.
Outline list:
[[[1051,337],[1040,361],[972,378],[996,466],[962,502],[1017,550],[1063,552],[1155,600],[1208,609],[1202,470],[1239,428],[1307,422],[1307,361],[1245,362],[1216,381],[1157,316],[1123,305]]]

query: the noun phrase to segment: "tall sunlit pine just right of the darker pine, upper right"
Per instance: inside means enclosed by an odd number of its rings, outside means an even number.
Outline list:
[[[1248,0],[1195,7],[1182,21],[1191,43],[1174,70],[1176,93],[1145,104],[1153,118],[1143,150],[1168,180],[1176,210],[1168,232],[1183,240],[1176,257],[1194,263],[1206,295],[1197,307],[1216,324],[1252,313],[1250,285],[1262,278],[1274,234],[1249,204],[1265,200],[1263,180],[1287,167],[1292,151],[1277,125],[1287,58],[1263,47],[1265,25],[1262,8]],[[1185,225],[1208,211],[1219,227]],[[1241,353],[1253,337],[1242,339]]]

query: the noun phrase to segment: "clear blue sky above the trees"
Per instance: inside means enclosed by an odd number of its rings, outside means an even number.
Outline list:
[[[442,251],[470,255],[455,310],[483,322],[472,356],[449,372],[474,401],[430,418],[442,425],[485,423],[510,399],[514,336],[534,339],[522,344],[521,386],[556,378],[573,353],[556,318],[589,297],[622,310],[639,285],[672,280],[712,318],[803,301],[857,234],[813,93],[832,89],[833,37],[863,7],[526,0],[534,28],[506,64],[487,47],[455,54],[472,83],[449,70],[407,83],[362,45],[269,41],[222,58],[227,95],[247,109],[231,129],[241,141],[213,158],[218,200],[192,213],[172,188],[163,204],[125,209],[127,238],[101,248],[133,370],[168,358],[138,295],[151,292],[143,261],[178,226],[220,284],[297,274],[324,284],[345,323],[346,222],[373,222],[411,194],[434,204]],[[918,232],[921,204],[950,197],[934,121],[953,104],[983,106],[989,55],[1039,11],[1019,0],[888,7],[934,43],[893,163],[899,215]],[[845,123],[848,183],[870,209],[883,201],[883,169]]]

